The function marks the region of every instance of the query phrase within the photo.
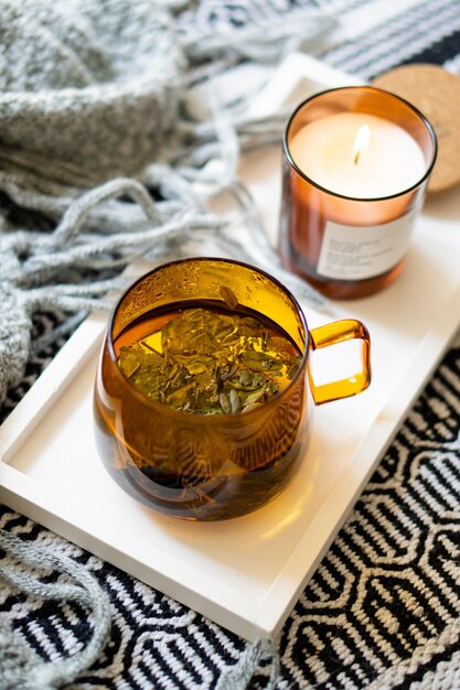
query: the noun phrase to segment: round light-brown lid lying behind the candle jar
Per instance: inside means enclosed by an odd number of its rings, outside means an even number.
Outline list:
[[[411,103],[431,122],[438,157],[428,192],[460,184],[460,77],[437,65],[404,65],[379,75],[373,86]]]

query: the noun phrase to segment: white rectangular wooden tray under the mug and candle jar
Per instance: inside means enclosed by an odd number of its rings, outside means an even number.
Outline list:
[[[257,108],[353,82],[292,55]],[[242,175],[275,240],[280,147],[246,157]],[[183,522],[139,505],[113,482],[93,440],[93,379],[106,325],[97,315],[0,428],[0,499],[247,639],[275,636],[456,333],[459,219],[459,191],[429,200],[400,278],[375,297],[339,305],[371,331],[372,386],[317,410],[300,476],[266,508],[225,522]],[[306,311],[310,326],[330,320]],[[342,365],[340,347],[328,366]]]

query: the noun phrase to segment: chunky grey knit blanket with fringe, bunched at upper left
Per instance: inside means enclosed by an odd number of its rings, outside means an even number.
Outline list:
[[[333,24],[307,7],[221,34],[162,4],[0,0],[0,403],[24,375],[36,311],[107,308],[98,298],[120,268],[176,256],[193,230],[225,241],[206,198],[235,184],[240,141],[279,136],[281,120],[249,122],[212,89],[193,98],[205,67],[256,50],[278,60]],[[208,174],[213,160],[224,175]]]

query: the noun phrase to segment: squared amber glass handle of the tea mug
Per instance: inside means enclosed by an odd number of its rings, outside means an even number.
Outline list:
[[[371,338],[367,328],[355,319],[342,319],[310,331],[310,347],[320,349],[345,341],[362,339],[362,369],[357,374],[339,381],[315,386],[311,374],[310,388],[315,405],[355,396],[365,390],[371,382]]]

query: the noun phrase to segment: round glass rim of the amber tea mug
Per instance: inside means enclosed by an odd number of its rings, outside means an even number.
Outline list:
[[[303,331],[304,331],[304,344],[303,344],[303,349],[302,349],[302,357],[301,360],[299,363],[299,366],[296,370],[296,374],[293,375],[293,377],[291,378],[291,380],[277,393],[275,393],[269,400],[265,401],[263,403],[263,407],[265,409],[267,409],[267,407],[271,407],[274,405],[277,405],[278,400],[284,397],[290,389],[291,387],[298,381],[300,375],[306,375],[304,373],[304,368],[307,365],[307,360],[309,357],[309,352],[310,352],[310,328],[308,326],[307,323],[307,317],[303,313],[303,310],[301,308],[301,305],[299,304],[298,300],[295,298],[295,295],[291,293],[291,291],[289,290],[289,288],[287,288],[280,280],[278,280],[277,278],[275,278],[275,276],[272,276],[271,273],[268,273],[267,271],[265,271],[261,268],[258,268],[256,266],[253,266],[250,263],[246,263],[245,261],[239,261],[237,259],[227,259],[227,258],[223,258],[223,257],[188,257],[188,258],[183,258],[183,259],[173,259],[171,261],[167,261],[164,263],[161,263],[157,267],[154,267],[153,269],[147,271],[146,273],[142,273],[142,276],[140,276],[138,279],[136,279],[124,292],[117,299],[117,302],[115,303],[109,320],[108,320],[108,324],[106,327],[106,337],[107,337],[107,349],[110,356],[111,362],[115,365],[116,371],[119,375],[121,381],[129,388],[129,390],[131,391],[131,393],[143,405],[147,405],[149,407],[151,407],[154,410],[161,410],[162,414],[170,414],[172,418],[182,418],[182,419],[191,419],[191,418],[195,418],[196,423],[205,423],[205,424],[218,424],[222,423],[222,421],[224,419],[227,420],[232,420],[232,421],[237,421],[238,419],[244,419],[246,416],[247,418],[256,416],[259,413],[259,409],[255,409],[255,410],[248,410],[247,412],[223,412],[222,414],[196,414],[193,412],[183,412],[182,410],[175,410],[174,408],[169,407],[168,405],[164,405],[163,402],[159,402],[158,400],[150,400],[149,398],[147,398],[147,396],[143,396],[135,386],[132,386],[132,384],[130,384],[130,381],[128,380],[128,378],[124,375],[124,373],[121,371],[120,367],[118,366],[118,362],[117,362],[117,356],[115,354],[115,348],[114,348],[114,338],[113,338],[113,327],[114,327],[114,321],[117,314],[117,310],[119,309],[119,306],[121,305],[122,301],[129,295],[129,292],[131,290],[133,290],[137,285],[139,285],[143,280],[146,280],[149,276],[152,276],[153,273],[157,273],[160,270],[164,270],[174,266],[180,266],[181,263],[190,263],[190,262],[206,262],[206,261],[217,261],[220,263],[227,263],[227,265],[235,265],[235,266],[240,266],[244,269],[248,269],[250,271],[256,271],[257,273],[264,276],[265,278],[267,278],[269,281],[271,281],[272,283],[275,283],[290,300],[290,302],[292,303],[292,306],[295,308],[300,322],[302,324]],[[174,302],[172,301],[171,304],[173,304]],[[256,310],[255,310],[256,311]],[[276,323],[276,322],[275,322]]]

